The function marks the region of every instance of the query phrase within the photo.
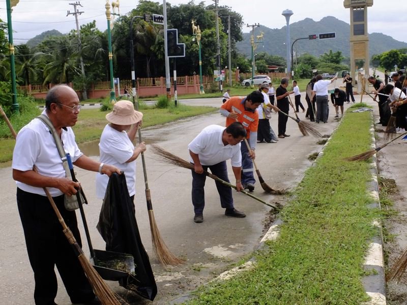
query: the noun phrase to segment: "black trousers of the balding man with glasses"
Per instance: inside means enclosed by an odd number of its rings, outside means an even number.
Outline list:
[[[65,209],[64,196],[53,199],[65,223],[81,246],[75,211]],[[57,291],[55,265],[73,303],[93,300],[95,294],[78,258],[62,232],[62,226],[48,198],[17,188],[17,206],[28,258],[34,271],[36,305],[54,305]]]

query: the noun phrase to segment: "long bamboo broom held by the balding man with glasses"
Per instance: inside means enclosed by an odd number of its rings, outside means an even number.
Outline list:
[[[0,112],[2,113],[3,118],[5,119],[14,139],[17,137],[16,132],[14,131],[13,126],[11,125],[6,113],[3,111],[2,106],[0,106]],[[37,171],[37,167],[34,165],[33,170],[35,172]],[[47,198],[52,206],[52,209],[55,212],[56,217],[58,218],[58,221],[62,225],[63,232],[65,237],[68,239],[68,242],[70,243],[72,249],[74,250],[75,254],[78,257],[79,263],[83,268],[83,271],[85,273],[86,278],[88,278],[89,283],[92,286],[93,291],[95,292],[95,295],[99,298],[100,302],[103,305],[121,305],[121,304],[127,304],[119,295],[114,293],[109,286],[103,281],[99,273],[95,270],[95,268],[92,266],[91,262],[88,261],[80,248],[78,242],[76,241],[75,237],[73,236],[72,231],[69,229],[69,227],[66,225],[64,219],[62,218],[62,215],[58,208],[55,205],[54,200],[52,199],[51,194],[49,193],[47,188],[43,188],[45,191],[45,194],[47,195]],[[119,300],[120,301],[119,301]]]

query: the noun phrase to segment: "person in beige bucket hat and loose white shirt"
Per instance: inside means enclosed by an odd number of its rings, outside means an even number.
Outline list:
[[[142,151],[146,151],[146,143],[141,142],[134,147],[136,132],[142,123],[143,114],[134,110],[130,101],[119,101],[114,104],[113,111],[106,114],[109,121],[102,132],[99,143],[100,162],[112,164],[126,176],[127,188],[131,200],[134,202],[136,159]],[[96,175],[96,195],[103,199],[109,177]]]

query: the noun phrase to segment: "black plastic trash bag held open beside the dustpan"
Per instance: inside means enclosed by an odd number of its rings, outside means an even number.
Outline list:
[[[106,242],[106,251],[129,253],[134,257],[135,275],[122,278],[120,286],[154,300],[157,285],[141,242],[134,205],[123,174],[114,173],[109,178],[97,229]]]

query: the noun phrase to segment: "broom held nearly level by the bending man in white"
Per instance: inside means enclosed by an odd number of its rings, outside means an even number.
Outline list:
[[[170,164],[170,165],[180,166],[180,167],[187,168],[187,169],[190,169],[190,170],[194,170],[194,166],[190,162],[171,154],[169,151],[167,151],[164,148],[158,146],[157,144],[151,144],[151,146],[153,148],[153,153],[158,155],[159,157],[161,157],[161,160],[160,160],[161,162],[166,163],[166,164]],[[235,190],[237,189],[236,186],[230,184],[229,182],[227,182],[225,180],[222,180],[218,176],[216,176],[216,175],[214,175],[212,173],[209,173],[208,171],[203,171],[203,173],[205,173],[205,175],[207,175],[208,177],[210,177],[210,178],[212,178],[212,179],[214,179],[214,180],[216,180],[218,182],[221,182],[221,184],[224,184],[225,186],[228,186],[230,188],[234,188]],[[255,200],[257,200],[257,201],[259,201],[259,202],[261,202],[261,203],[263,203],[263,204],[266,204],[266,205],[268,205],[268,206],[270,206],[270,207],[272,207],[274,209],[278,209],[278,207],[276,207],[275,205],[267,203],[266,201],[261,200],[260,198],[250,194],[249,192],[246,192],[245,190],[241,190],[240,192],[247,195],[247,196],[249,196],[249,197],[251,197],[251,198],[253,198],[253,199],[255,199]],[[287,193],[286,190],[275,190],[275,192],[276,192],[275,195],[283,195],[283,194]]]

